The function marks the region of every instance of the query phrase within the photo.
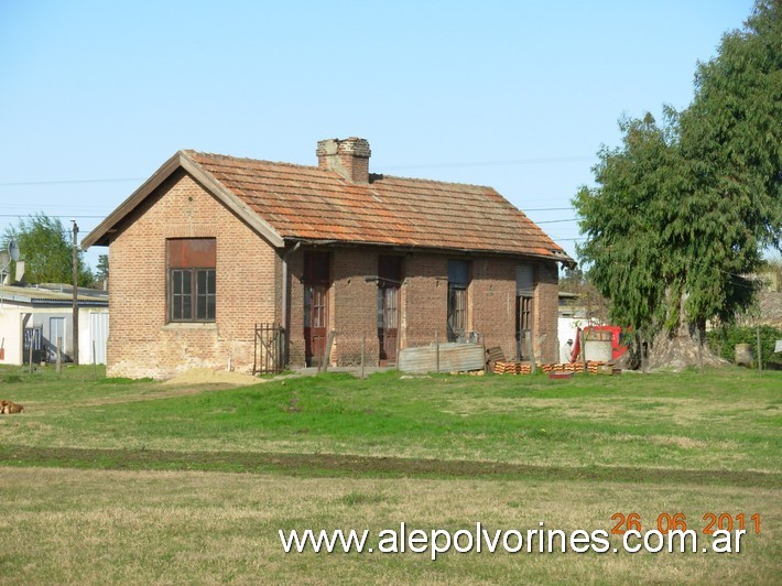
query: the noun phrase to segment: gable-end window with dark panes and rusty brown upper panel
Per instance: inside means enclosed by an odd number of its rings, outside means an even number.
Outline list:
[[[166,241],[169,322],[214,322],[217,308],[215,238]]]

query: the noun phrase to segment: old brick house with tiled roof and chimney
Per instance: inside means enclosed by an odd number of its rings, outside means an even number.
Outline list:
[[[250,370],[256,324],[291,366],[395,360],[477,333],[557,356],[557,262],[572,260],[491,187],[369,173],[363,139],[317,166],[180,151],[83,241],[108,246],[109,376]],[[530,332],[532,348],[525,344]],[[545,336],[544,336],[545,334]]]

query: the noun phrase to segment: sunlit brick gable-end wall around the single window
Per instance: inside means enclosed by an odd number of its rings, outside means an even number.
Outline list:
[[[166,238],[217,239],[217,306],[210,324],[166,324]],[[111,377],[167,378],[194,367],[252,368],[253,327],[274,322],[274,249],[183,171],[113,237]]]

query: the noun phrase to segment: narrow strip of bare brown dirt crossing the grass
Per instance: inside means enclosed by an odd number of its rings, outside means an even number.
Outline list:
[[[541,478],[662,485],[727,485],[778,488],[782,475],[760,471],[687,470],[591,466],[565,468],[500,462],[367,457],[340,454],[269,454],[258,452],[173,452],[163,449],[88,449],[11,445],[0,465],[98,469],[209,470],[282,473],[325,477]]]

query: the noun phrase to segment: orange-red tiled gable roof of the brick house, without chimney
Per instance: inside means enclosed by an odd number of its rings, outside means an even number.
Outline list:
[[[573,262],[549,236],[491,187],[370,175],[352,183],[319,166],[180,151],[83,241],[110,232],[178,167],[273,246],[327,241],[481,251]]]

